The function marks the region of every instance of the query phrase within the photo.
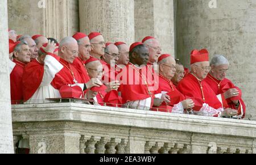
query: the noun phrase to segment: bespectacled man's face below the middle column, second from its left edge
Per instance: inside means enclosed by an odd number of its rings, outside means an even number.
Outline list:
[[[95,37],[94,39],[92,39],[91,44],[92,44],[92,53],[98,54],[100,57],[104,56],[106,43],[103,36]]]

